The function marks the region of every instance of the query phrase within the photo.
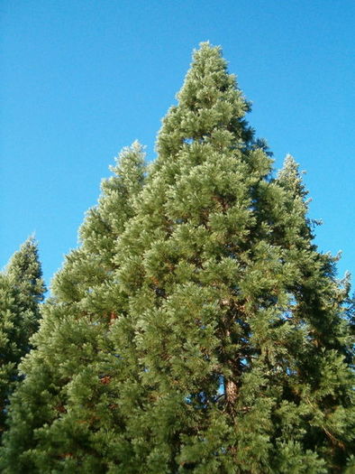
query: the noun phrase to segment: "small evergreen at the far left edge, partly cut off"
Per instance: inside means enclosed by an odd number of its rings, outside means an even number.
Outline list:
[[[38,247],[30,237],[0,274],[0,431],[5,430],[9,396],[19,380],[18,364],[38,329],[45,286]]]

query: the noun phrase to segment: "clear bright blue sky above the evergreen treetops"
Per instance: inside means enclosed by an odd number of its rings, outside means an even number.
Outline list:
[[[0,266],[35,232],[50,282],[114,156],[138,139],[154,159],[209,40],[275,167],[291,153],[306,170],[317,245],[355,274],[353,0],[0,0],[0,17]]]

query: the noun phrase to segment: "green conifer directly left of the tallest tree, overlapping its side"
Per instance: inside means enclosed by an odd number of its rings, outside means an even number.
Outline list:
[[[21,365],[25,379],[12,398],[2,450],[5,472],[105,471],[103,451],[96,451],[104,441],[96,440],[96,432],[102,425],[105,431],[111,416],[105,412],[115,404],[107,372],[116,360],[107,332],[120,309],[114,243],[143,185],[142,146],[123,149],[112,171],[80,228],[82,245],[52,283],[53,296],[32,339],[36,349]],[[114,300],[107,297],[112,285]]]

